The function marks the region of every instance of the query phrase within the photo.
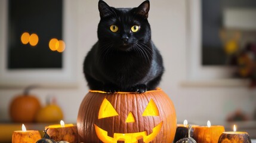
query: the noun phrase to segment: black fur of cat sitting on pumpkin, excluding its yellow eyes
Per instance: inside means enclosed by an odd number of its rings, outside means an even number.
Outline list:
[[[146,92],[159,85],[164,66],[151,41],[147,21],[149,1],[137,8],[113,8],[98,2],[98,42],[84,61],[84,74],[92,90]],[[118,26],[112,32],[110,26]],[[131,27],[140,29],[132,32]]]

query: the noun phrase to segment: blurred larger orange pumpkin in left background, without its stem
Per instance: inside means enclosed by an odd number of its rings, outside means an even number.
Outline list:
[[[11,101],[10,116],[13,122],[34,122],[40,108],[38,98],[32,95],[19,95]]]

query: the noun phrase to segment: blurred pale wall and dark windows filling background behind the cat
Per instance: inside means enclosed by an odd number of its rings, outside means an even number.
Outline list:
[[[112,7],[143,1],[106,0]],[[11,102],[54,102],[76,123],[88,92],[82,64],[97,42],[98,1],[0,1],[0,123],[13,123]],[[161,85],[177,122],[224,125],[256,138],[256,1],[150,1],[152,39],[164,58]],[[49,100],[50,99],[50,100]],[[47,115],[45,115],[47,116]],[[240,128],[240,129],[239,129]]]

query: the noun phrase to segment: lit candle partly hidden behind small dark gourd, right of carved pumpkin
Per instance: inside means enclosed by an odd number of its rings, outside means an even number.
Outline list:
[[[177,142],[180,139],[186,138],[188,136],[188,122],[184,120],[183,124],[178,124],[176,128],[176,133],[174,137],[174,142]],[[190,137],[193,138],[193,132],[195,127],[198,125],[192,125],[192,129],[190,130]]]

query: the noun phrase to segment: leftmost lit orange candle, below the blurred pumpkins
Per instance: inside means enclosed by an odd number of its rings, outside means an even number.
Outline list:
[[[24,124],[22,125],[22,130],[16,130],[13,132],[12,142],[18,143],[29,143],[36,142],[41,139],[41,135],[38,130],[27,130]]]

